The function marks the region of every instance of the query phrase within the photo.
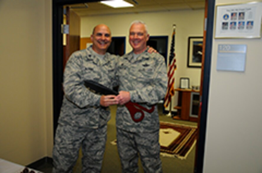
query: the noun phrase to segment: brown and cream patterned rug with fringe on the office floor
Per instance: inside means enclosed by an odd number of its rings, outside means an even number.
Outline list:
[[[196,144],[197,128],[183,124],[160,122],[159,143],[161,155],[186,159]],[[116,145],[117,140],[111,142]]]

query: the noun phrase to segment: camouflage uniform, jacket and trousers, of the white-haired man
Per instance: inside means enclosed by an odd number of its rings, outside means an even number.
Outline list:
[[[130,52],[117,63],[119,91],[129,91],[132,102],[150,109],[163,99],[167,89],[166,64],[160,54],[144,51],[137,58]],[[117,108],[117,147],[122,172],[138,172],[138,152],[144,172],[162,172],[157,106],[134,122],[125,106]]]

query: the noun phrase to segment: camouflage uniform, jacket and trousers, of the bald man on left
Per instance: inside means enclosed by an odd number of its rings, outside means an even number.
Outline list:
[[[101,95],[86,89],[83,81],[94,80],[112,88],[116,56],[96,54],[91,46],[73,53],[64,71],[64,98],[53,148],[53,172],[72,172],[82,146],[82,172],[101,172],[107,139],[108,107]]]

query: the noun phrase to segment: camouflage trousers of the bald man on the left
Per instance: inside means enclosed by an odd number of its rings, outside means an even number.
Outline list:
[[[53,173],[72,172],[82,146],[82,172],[101,172],[107,124],[98,129],[58,125],[53,147]]]

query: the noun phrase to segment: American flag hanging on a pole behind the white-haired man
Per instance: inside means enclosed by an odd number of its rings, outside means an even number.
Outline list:
[[[171,41],[171,49],[169,55],[169,63],[168,63],[168,85],[167,85],[167,92],[164,100],[164,107],[168,107],[169,103],[171,102],[172,96],[175,94],[174,91],[174,83],[175,83],[175,70],[176,70],[176,59],[175,57],[175,35],[176,35],[176,25],[173,25],[173,34],[172,34],[172,41]]]

